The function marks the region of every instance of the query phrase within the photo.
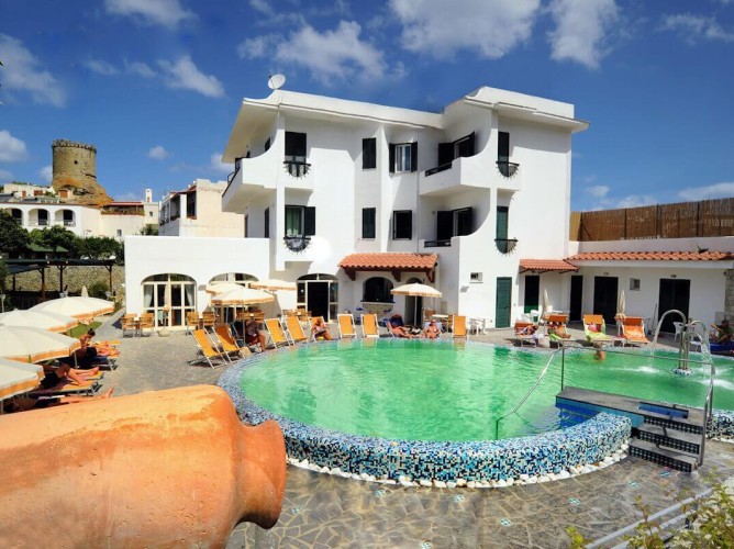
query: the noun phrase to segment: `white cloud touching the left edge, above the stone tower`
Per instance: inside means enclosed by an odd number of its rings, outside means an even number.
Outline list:
[[[36,103],[64,105],[64,89],[51,72],[41,68],[41,61],[21,41],[0,34],[0,59],[3,89],[27,91]]]

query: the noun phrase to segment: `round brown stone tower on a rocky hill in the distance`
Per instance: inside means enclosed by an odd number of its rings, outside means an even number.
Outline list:
[[[52,186],[59,194],[67,191],[67,201],[92,206],[112,202],[97,182],[97,149],[92,145],[56,139],[51,146],[54,158]]]

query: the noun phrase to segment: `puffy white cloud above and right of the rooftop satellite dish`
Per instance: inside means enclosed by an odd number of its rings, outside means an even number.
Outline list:
[[[388,66],[379,49],[359,40],[360,32],[358,23],[347,21],[323,34],[305,25],[278,44],[275,58],[305,67],[326,85],[344,80],[375,82],[385,78]]]

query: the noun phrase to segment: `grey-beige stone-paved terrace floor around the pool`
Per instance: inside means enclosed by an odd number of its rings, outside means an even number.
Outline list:
[[[120,337],[118,316],[98,329],[99,338]],[[570,333],[583,336],[574,327]],[[511,336],[509,329],[497,329],[469,339],[512,345]],[[672,345],[672,337],[660,343]],[[182,332],[169,337],[126,337],[121,350],[119,368],[103,380],[107,388],[115,388],[115,395],[216,383],[223,370],[190,366],[196,345]],[[404,489],[289,466],[278,524],[264,530],[243,523],[227,548],[568,547],[565,529],[569,526],[598,540],[642,517],[635,507],[637,497],[655,513],[671,506],[681,491],[702,492],[710,477],[733,474],[734,447],[721,441],[707,442],[704,463],[694,474],[626,458],[567,480],[496,490]]]

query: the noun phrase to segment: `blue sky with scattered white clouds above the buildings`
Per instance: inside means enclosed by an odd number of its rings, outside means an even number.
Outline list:
[[[97,146],[118,200],[220,163],[243,97],[440,111],[491,86],[576,105],[571,208],[734,197],[734,0],[0,0],[0,182]]]

